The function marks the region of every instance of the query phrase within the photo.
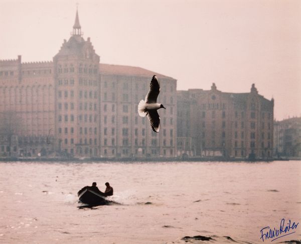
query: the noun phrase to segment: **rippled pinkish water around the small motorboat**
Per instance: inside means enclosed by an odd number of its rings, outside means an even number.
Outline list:
[[[0,242],[260,243],[261,228],[301,222],[300,174],[300,161],[0,163]],[[93,181],[121,205],[77,208]]]

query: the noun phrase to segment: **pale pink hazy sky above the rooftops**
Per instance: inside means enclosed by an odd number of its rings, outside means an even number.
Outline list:
[[[0,59],[50,61],[78,3],[101,63],[139,66],[178,89],[274,97],[276,119],[301,115],[301,1],[0,0]]]

